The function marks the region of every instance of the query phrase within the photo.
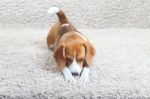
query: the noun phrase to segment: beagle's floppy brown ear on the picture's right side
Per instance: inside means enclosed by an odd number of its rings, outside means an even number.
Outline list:
[[[96,50],[95,48],[93,47],[93,45],[91,43],[85,43],[85,61],[83,63],[83,66],[90,66],[92,65],[92,60],[93,60],[93,57],[96,53]]]

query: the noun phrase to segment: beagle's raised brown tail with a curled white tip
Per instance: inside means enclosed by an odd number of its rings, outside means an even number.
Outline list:
[[[66,15],[65,15],[65,13],[61,9],[59,9],[57,7],[51,7],[51,8],[49,8],[48,9],[48,13],[51,14],[51,15],[52,14],[57,14],[59,22],[61,24],[69,23]]]

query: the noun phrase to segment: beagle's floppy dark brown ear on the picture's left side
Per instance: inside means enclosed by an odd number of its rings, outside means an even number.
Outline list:
[[[57,68],[62,70],[63,67],[66,65],[65,59],[65,45],[60,44],[57,49],[54,51],[54,58],[57,64]]]

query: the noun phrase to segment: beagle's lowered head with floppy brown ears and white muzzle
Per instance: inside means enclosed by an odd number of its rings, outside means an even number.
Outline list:
[[[54,51],[57,67],[67,66],[72,74],[79,75],[85,66],[92,64],[95,48],[89,42],[60,43]]]

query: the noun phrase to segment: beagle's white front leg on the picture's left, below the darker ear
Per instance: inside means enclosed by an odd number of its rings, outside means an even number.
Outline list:
[[[65,67],[63,69],[63,75],[64,75],[64,78],[67,82],[71,82],[71,83],[76,82],[75,78],[72,76],[72,73],[70,72],[68,67]]]

